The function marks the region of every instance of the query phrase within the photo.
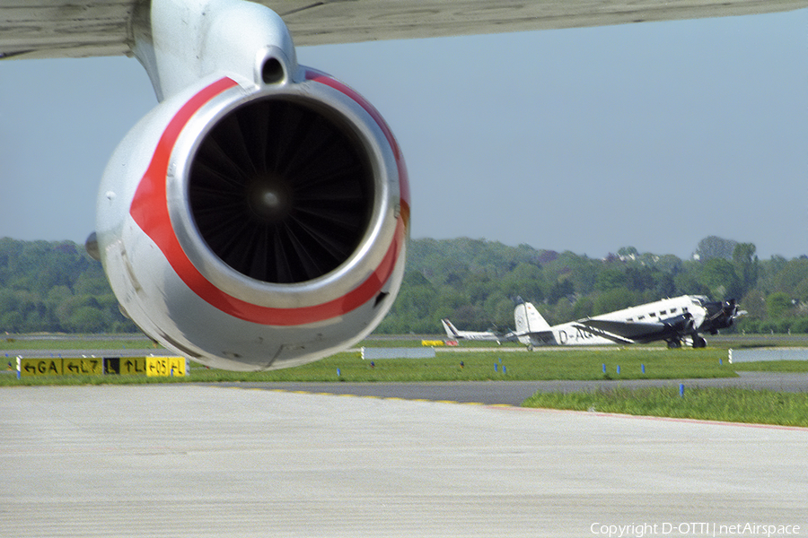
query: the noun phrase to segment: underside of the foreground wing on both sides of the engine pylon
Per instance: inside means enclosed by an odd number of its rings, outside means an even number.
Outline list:
[[[295,45],[605,26],[790,11],[808,0],[261,0]],[[0,58],[127,55],[148,0],[3,0]]]

